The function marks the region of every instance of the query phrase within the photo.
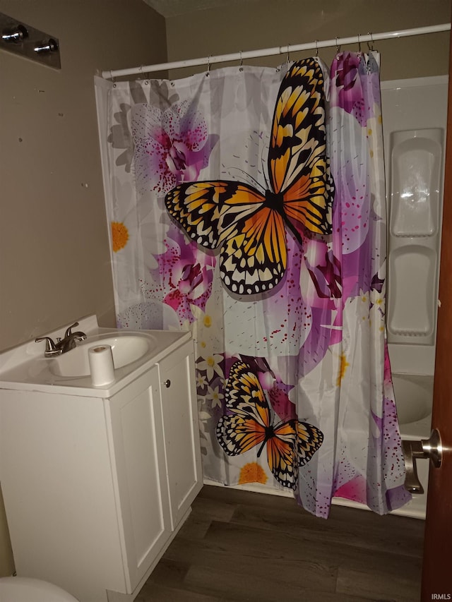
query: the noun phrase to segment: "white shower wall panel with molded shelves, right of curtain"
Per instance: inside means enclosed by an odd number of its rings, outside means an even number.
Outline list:
[[[434,373],[447,91],[447,76],[381,83],[393,373]]]

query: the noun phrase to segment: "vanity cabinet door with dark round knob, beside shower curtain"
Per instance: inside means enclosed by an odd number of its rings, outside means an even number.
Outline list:
[[[195,385],[194,344],[159,363],[172,529],[203,486]]]

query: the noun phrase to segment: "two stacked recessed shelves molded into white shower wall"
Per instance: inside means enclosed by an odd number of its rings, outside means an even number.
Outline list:
[[[390,140],[388,342],[434,345],[444,131],[393,131]]]

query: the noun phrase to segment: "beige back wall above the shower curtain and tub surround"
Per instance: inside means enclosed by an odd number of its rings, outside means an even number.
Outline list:
[[[226,8],[167,18],[169,61],[333,40],[450,23],[451,0],[230,0]],[[423,35],[375,44],[381,52],[381,78],[393,80],[448,73],[448,33]],[[357,50],[357,45],[349,49]],[[367,49],[367,44],[363,44]],[[319,56],[331,64],[335,49]],[[293,53],[290,59],[311,55]],[[286,56],[252,59],[246,64],[276,66]],[[203,68],[172,71],[174,78]]]

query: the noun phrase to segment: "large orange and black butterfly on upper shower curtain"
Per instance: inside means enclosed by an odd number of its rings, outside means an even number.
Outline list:
[[[287,267],[287,227],[302,237],[331,234],[334,183],[326,157],[323,73],[298,61],[280,85],[268,150],[266,191],[238,181],[180,184],[165,205],[199,245],[220,247],[220,275],[237,294],[273,289]]]

